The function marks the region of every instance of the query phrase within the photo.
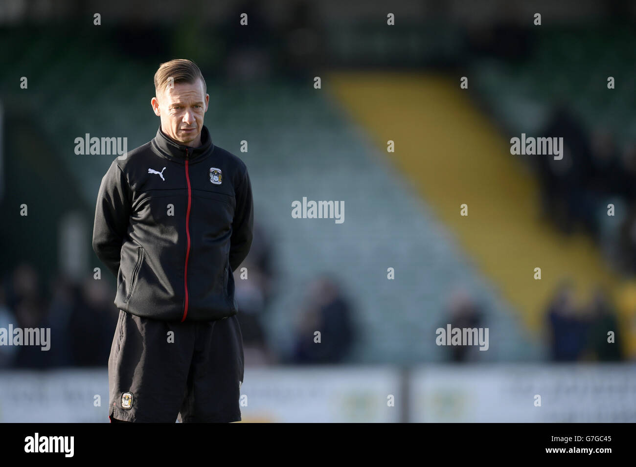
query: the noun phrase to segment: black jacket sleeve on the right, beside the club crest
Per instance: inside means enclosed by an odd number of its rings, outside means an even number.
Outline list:
[[[252,227],[254,226],[254,206],[252,204],[252,184],[245,170],[245,175],[236,187],[236,210],[232,221],[232,238],[230,239],[230,267],[236,271],[252,246]]]

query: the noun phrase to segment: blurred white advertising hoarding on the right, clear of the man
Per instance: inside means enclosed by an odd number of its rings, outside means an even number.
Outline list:
[[[635,365],[430,365],[410,381],[413,422],[636,421]]]

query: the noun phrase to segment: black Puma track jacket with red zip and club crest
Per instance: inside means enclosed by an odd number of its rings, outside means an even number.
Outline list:
[[[165,321],[237,314],[235,271],[252,244],[252,187],[237,156],[156,137],[114,159],[95,208],[93,250],[117,277],[114,304]],[[231,268],[231,269],[230,269]]]

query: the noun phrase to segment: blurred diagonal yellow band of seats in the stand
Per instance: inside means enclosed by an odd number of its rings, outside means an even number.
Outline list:
[[[541,331],[563,278],[574,281],[581,301],[597,284],[614,299],[625,297],[625,285],[588,236],[563,236],[539,219],[539,185],[519,159],[551,156],[510,154],[510,138],[521,135],[502,134],[460,89],[459,76],[334,72],[322,86],[404,173],[531,330]],[[389,140],[395,152],[386,152]],[[541,280],[534,278],[536,267]],[[629,316],[623,307],[625,324]],[[636,349],[633,339],[628,348]]]

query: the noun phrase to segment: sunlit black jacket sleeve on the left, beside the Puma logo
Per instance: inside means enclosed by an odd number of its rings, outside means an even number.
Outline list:
[[[128,231],[132,190],[116,159],[102,178],[95,207],[93,250],[116,277]]]

